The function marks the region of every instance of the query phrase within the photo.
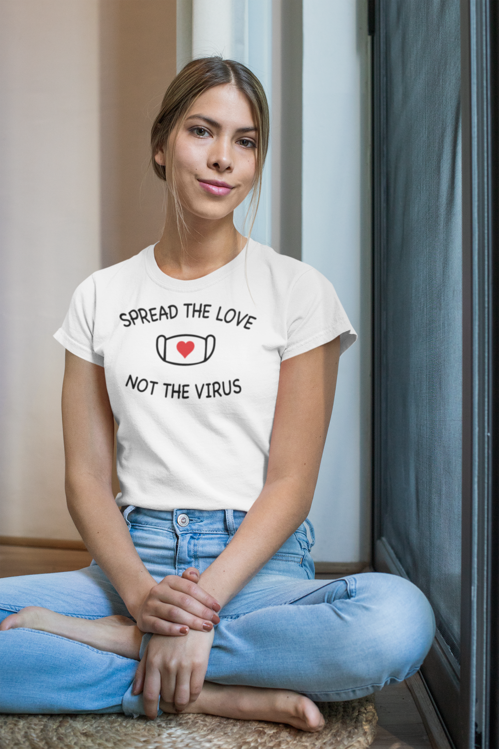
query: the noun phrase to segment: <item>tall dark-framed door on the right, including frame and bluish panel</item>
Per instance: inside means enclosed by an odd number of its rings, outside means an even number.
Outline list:
[[[374,559],[435,611],[422,674],[450,739],[492,748],[498,12],[423,6],[375,4]]]

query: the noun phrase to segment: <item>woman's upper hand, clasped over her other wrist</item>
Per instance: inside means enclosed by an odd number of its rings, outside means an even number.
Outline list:
[[[153,586],[136,615],[143,632],[178,637],[189,629],[209,632],[220,619],[220,604],[198,586],[199,572],[189,567],[182,577],[169,574]]]

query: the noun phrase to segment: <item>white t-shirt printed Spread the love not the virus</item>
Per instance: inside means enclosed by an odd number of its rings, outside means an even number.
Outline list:
[[[247,257],[246,257],[247,253]],[[118,425],[118,505],[248,511],[266,479],[281,361],[357,334],[331,283],[249,240],[194,281],[151,245],[86,279],[55,333],[103,366]]]

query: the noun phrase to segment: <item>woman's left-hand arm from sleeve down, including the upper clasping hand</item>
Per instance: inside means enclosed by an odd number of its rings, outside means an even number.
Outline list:
[[[174,635],[185,634],[183,625],[202,630],[206,620],[218,621],[212,610],[218,604],[211,595],[176,575],[156,584],[135,551],[111,488],[114,419],[104,369],[69,351],[62,422],[70,515],[139,628]]]

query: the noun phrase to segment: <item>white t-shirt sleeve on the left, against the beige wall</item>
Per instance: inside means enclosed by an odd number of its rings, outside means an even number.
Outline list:
[[[104,357],[94,351],[95,309],[95,282],[90,276],[73,294],[64,323],[54,338],[77,357],[103,367]]]

